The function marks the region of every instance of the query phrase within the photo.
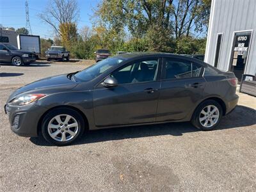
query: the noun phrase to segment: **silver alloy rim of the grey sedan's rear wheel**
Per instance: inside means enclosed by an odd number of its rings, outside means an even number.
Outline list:
[[[199,122],[204,127],[212,127],[215,125],[220,118],[220,111],[216,106],[209,105],[206,106],[200,112]]]

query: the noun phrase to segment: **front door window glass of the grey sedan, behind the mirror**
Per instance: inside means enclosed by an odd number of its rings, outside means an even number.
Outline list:
[[[119,68],[111,74],[118,84],[154,81],[157,74],[158,59],[135,61]]]

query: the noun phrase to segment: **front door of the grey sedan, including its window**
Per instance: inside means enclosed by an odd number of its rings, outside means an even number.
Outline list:
[[[110,74],[118,86],[106,88],[99,84],[94,89],[93,112],[97,127],[156,121],[159,61],[159,58],[133,61]]]

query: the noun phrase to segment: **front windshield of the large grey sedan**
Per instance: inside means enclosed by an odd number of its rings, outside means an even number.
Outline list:
[[[95,77],[99,76],[103,72],[106,72],[106,70],[109,68],[118,65],[122,61],[124,60],[120,58],[108,58],[106,60],[99,61],[81,72],[78,72],[75,74],[75,77],[81,81],[91,81]]]

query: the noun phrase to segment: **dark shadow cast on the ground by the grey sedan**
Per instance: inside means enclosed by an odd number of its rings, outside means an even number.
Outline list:
[[[223,117],[220,125],[218,128],[214,129],[214,131],[232,128],[243,128],[250,125],[255,125],[255,116],[255,109],[247,108],[245,106],[237,106],[234,111]],[[86,132],[86,136],[83,136],[80,140],[72,143],[72,145],[161,135],[182,136],[184,133],[197,131],[200,130],[193,127],[193,125],[189,122],[101,129]],[[30,138],[30,141],[35,145],[53,146],[51,143],[47,143],[47,141],[44,140],[42,134],[40,134],[37,138]]]

